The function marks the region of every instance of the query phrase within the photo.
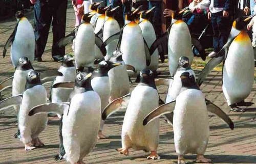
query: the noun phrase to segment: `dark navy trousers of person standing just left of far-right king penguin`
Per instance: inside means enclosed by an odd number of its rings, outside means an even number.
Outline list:
[[[227,42],[231,30],[231,18],[223,17],[223,12],[211,13],[211,25],[214,31],[213,43],[214,51],[219,52]]]

